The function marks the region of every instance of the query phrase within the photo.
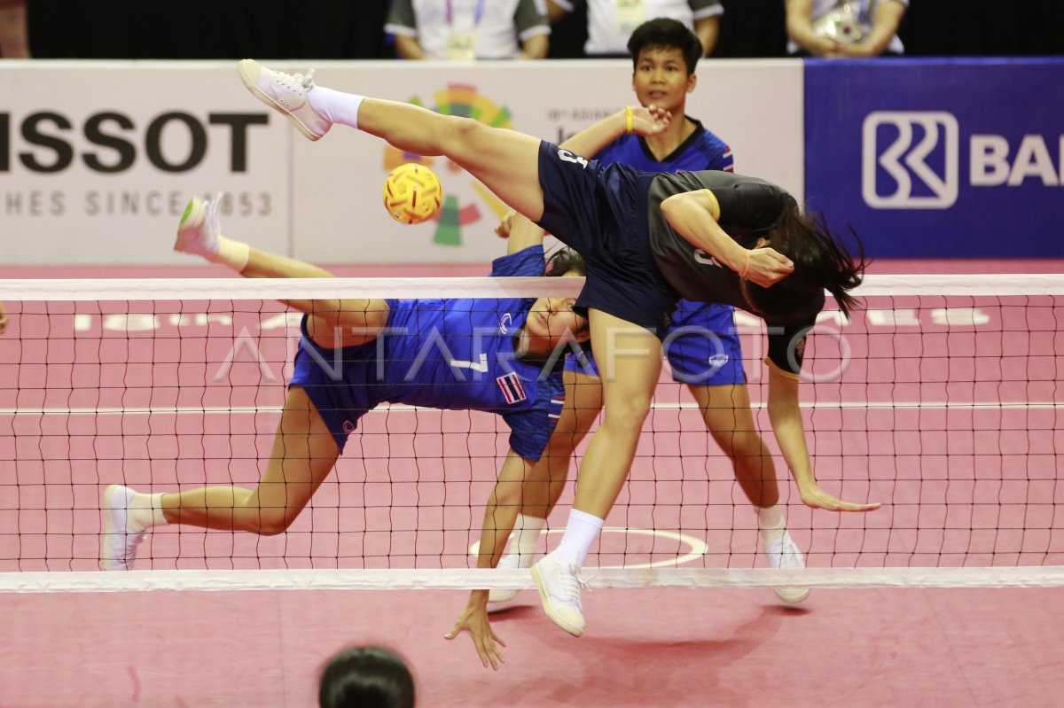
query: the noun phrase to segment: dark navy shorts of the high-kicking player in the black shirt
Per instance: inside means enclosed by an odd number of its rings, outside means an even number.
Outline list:
[[[595,308],[664,339],[679,296],[650,250],[647,197],[653,174],[601,167],[539,144],[539,225],[587,264],[578,311]]]

